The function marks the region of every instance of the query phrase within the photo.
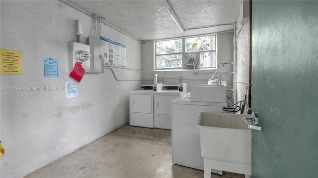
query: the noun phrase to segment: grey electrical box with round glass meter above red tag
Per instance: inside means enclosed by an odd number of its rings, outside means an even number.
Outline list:
[[[86,68],[86,72],[90,72],[90,52],[89,45],[79,42],[68,42],[69,50],[69,71],[72,72],[76,62],[79,62]]]

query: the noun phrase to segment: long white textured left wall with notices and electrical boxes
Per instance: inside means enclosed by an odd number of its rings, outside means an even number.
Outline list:
[[[0,75],[1,87],[65,87],[67,43],[75,41],[74,20],[85,38],[93,20],[57,0],[0,1],[1,48],[22,52],[22,75]],[[141,44],[102,25],[101,35],[127,46],[127,67],[141,68]],[[59,77],[44,78],[42,57],[59,59]],[[140,71],[114,69],[119,79],[141,79]],[[85,74],[79,97],[66,91],[1,91],[1,178],[17,178],[113,131],[129,121],[129,91],[140,82],[116,81],[104,74]]]

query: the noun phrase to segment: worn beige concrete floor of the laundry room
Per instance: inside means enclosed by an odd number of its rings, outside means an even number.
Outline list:
[[[171,158],[170,130],[125,125],[25,178],[203,178],[203,171],[174,165]]]

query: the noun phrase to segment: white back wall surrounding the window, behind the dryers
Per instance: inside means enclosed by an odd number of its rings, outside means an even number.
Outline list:
[[[159,79],[174,79],[166,80],[164,84],[178,84],[179,78],[182,77],[185,80],[183,83],[187,83],[187,92],[190,92],[196,85],[207,84],[208,80],[212,78],[212,75],[215,72],[215,70],[197,70],[199,75],[193,75],[194,69],[181,71],[154,71],[154,46],[154,42],[146,42],[142,45],[144,79],[154,79],[154,75],[158,74]],[[233,33],[221,33],[217,35],[217,60],[218,63],[233,61]],[[232,64],[226,65],[224,72],[230,73],[232,72],[232,69]],[[222,69],[219,69],[219,72],[221,71]],[[233,74],[225,74],[222,77],[223,81],[227,81],[228,89],[233,88],[232,78]],[[151,84],[153,81],[149,81],[148,83]],[[158,83],[161,83],[161,81],[158,81]],[[231,94],[231,91],[228,91],[227,94]]]

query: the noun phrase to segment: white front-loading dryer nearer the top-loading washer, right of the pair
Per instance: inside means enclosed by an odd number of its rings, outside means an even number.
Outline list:
[[[154,92],[154,127],[171,130],[171,101],[187,93],[185,83],[162,85]]]

